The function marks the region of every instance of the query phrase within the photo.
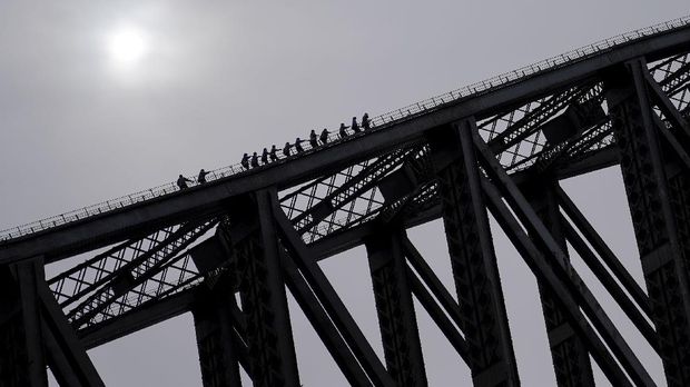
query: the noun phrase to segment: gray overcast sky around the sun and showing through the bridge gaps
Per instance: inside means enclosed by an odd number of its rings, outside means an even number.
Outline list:
[[[0,0],[0,229],[235,163],[244,151],[353,115],[376,116],[688,13],[681,0]],[[112,58],[122,30],[144,37],[131,63]],[[620,180],[611,169],[564,186],[639,277]],[[438,222],[410,234],[435,267],[450,268]],[[523,385],[552,385],[534,280],[500,232],[496,245]],[[381,353],[364,250],[324,268]],[[303,383],[344,385],[304,317],[293,315]],[[432,385],[467,380],[428,318],[420,319]],[[660,375],[649,348],[635,348]],[[200,386],[189,316],[90,354],[108,385]]]

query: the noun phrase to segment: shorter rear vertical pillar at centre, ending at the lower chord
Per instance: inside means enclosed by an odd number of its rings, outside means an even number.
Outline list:
[[[367,238],[378,326],[386,368],[398,386],[426,386],[420,333],[407,285],[401,232],[385,229]]]

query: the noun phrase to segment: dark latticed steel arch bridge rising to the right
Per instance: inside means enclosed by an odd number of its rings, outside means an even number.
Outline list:
[[[475,386],[520,375],[490,216],[534,274],[559,386],[652,386],[575,252],[690,386],[690,18],[373,118],[258,168],[213,171],[0,234],[0,385],[101,386],[86,350],[191,312],[204,386],[299,386],[286,287],[354,386],[425,386],[413,299]],[[620,166],[638,284],[559,180]],[[454,289],[406,229],[443,219]],[[632,241],[631,241],[632,242]],[[365,246],[384,359],[322,259]],[[46,278],[45,266],[79,256]],[[82,258],[86,257],[86,258]]]

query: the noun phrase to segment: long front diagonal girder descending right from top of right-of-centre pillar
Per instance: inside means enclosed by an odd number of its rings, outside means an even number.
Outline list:
[[[518,186],[501,167],[483,140],[475,133],[473,136],[481,165],[491,179],[491,181],[483,179],[482,188],[490,199],[492,214],[538,279],[548,286],[562,304],[563,310],[569,314],[570,324],[578,329],[604,374],[614,385],[630,385],[628,377],[635,385],[653,385],[644,367],[605,315],[584,281],[569,264],[565,252],[539,219]],[[512,214],[515,214],[516,218]],[[534,240],[525,234],[525,229]],[[539,251],[540,247],[548,251],[550,259],[545,259],[545,256]],[[584,319],[582,312],[592,321],[597,331]],[[600,336],[611,353],[601,341]],[[628,377],[617,361],[620,361]]]

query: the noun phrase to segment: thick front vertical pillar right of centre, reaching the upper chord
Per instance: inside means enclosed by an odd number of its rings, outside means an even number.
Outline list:
[[[474,153],[472,119],[430,133],[462,330],[475,386],[518,386],[518,368]]]

